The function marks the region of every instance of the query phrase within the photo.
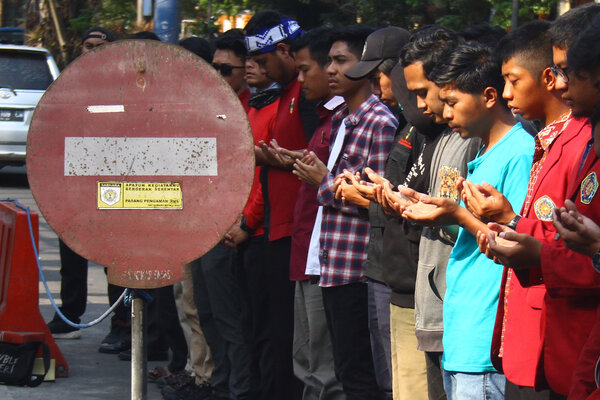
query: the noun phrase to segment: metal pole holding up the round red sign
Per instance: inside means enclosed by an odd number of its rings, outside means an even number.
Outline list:
[[[144,299],[134,294],[131,301],[131,400],[146,400],[148,389],[144,303]]]

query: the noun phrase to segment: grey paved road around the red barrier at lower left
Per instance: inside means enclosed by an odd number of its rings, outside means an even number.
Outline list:
[[[0,199],[19,200],[39,213],[29,186],[25,168],[0,169]],[[40,215],[40,261],[52,296],[59,302],[60,258],[56,234]],[[88,307],[83,321],[91,321],[108,308],[106,276],[102,267],[90,263],[88,270]],[[40,281],[40,311],[46,321],[54,314]],[[60,340],[58,346],[69,363],[70,376],[56,382],[44,382],[36,388],[0,385],[1,400],[121,400],[130,399],[131,366],[116,355],[101,354],[98,345],[108,333],[110,322],[105,320],[86,329],[79,340]],[[1,327],[0,327],[1,330]],[[149,363],[153,368],[156,363]],[[148,384],[148,400],[161,399],[154,384]]]

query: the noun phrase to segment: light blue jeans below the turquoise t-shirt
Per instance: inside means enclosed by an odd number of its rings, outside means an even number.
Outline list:
[[[443,371],[448,400],[504,400],[506,378],[499,372]]]

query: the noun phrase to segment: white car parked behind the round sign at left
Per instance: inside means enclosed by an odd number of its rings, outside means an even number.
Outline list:
[[[33,110],[58,77],[54,58],[39,47],[0,45],[0,168],[25,164]]]

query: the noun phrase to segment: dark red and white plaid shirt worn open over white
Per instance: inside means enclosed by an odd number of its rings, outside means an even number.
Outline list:
[[[342,121],[346,125],[344,144],[333,170],[321,182],[317,197],[323,206],[319,254],[322,287],[364,280],[369,244],[367,214],[359,216],[358,207],[335,199],[335,177],[345,169],[363,173],[366,167],[383,175],[398,126],[388,108],[371,95],[352,114],[344,106],[334,115],[330,152]]]

